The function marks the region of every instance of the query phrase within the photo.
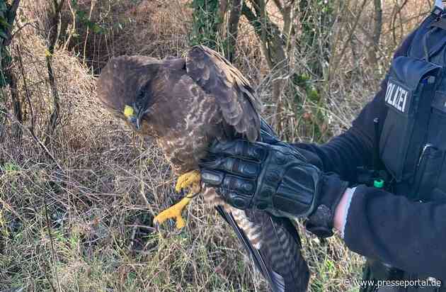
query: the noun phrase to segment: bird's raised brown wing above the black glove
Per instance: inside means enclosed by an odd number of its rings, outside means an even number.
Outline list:
[[[260,131],[261,102],[248,80],[224,57],[208,47],[193,47],[186,57],[188,75],[215,97],[226,123],[256,141]]]

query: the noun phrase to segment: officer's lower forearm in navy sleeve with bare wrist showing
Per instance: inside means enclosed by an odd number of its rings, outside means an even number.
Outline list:
[[[418,203],[382,189],[345,191],[334,227],[353,252],[446,279],[446,203]]]

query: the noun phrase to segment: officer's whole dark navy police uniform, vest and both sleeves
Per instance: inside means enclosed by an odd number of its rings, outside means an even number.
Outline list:
[[[358,169],[372,167],[379,149],[379,164],[389,174],[385,188],[356,187],[343,237],[349,249],[367,257],[365,279],[394,282],[361,291],[446,291],[446,12],[441,1],[396,50],[380,91],[352,127],[324,145],[297,147],[316,154],[324,171],[352,184],[362,182]],[[406,280],[406,287],[392,285],[397,280]]]

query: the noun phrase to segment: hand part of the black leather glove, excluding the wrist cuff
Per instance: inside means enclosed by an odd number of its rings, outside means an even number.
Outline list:
[[[212,152],[234,154],[217,156],[205,162],[207,168],[202,170],[202,181],[219,186],[217,192],[227,203],[282,217],[311,213],[320,171],[292,147],[239,140],[226,149],[224,144],[219,145]]]

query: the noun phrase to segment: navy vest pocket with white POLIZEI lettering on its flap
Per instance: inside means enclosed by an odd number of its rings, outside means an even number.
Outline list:
[[[439,70],[436,64],[405,56],[396,57],[391,64],[384,98],[389,111],[379,149],[382,162],[397,182],[415,172]]]

